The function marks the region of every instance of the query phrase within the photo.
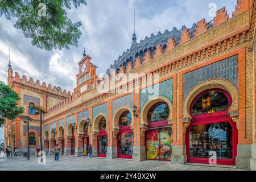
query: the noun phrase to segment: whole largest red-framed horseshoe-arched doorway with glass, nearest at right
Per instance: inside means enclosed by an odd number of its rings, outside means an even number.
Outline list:
[[[236,165],[237,127],[230,119],[230,94],[223,89],[209,89],[191,102],[191,125],[187,128],[188,162],[210,163],[210,155],[217,164]]]

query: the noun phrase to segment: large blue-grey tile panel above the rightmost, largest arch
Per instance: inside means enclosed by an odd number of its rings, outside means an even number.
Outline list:
[[[229,57],[228,59],[185,73],[183,75],[183,100],[196,85],[212,78],[226,79],[238,86],[237,56]]]

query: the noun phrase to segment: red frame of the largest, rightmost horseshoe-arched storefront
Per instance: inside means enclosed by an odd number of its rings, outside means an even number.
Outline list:
[[[199,99],[200,96],[202,96],[204,93],[209,92],[210,90],[219,91],[225,94],[225,96],[228,98],[229,106],[230,108],[232,104],[232,98],[229,95],[228,92],[226,92],[223,89],[208,89],[204,90],[204,92],[201,92],[194,100],[192,101],[192,104],[189,108],[190,113],[192,115],[192,107],[195,104],[195,102]],[[237,156],[237,143],[238,143],[238,130],[236,127],[236,123],[232,121],[229,117],[229,112],[227,111],[220,111],[218,113],[211,113],[211,114],[200,114],[200,115],[192,115],[192,122],[191,125],[188,126],[187,132],[186,132],[186,146],[187,146],[187,159],[188,163],[204,163],[208,164],[209,159],[201,159],[201,158],[191,158],[189,153],[189,131],[191,130],[192,126],[196,125],[206,125],[206,124],[212,124],[212,123],[222,123],[222,122],[229,122],[230,126],[232,127],[232,159],[217,159],[217,164],[220,165],[229,165],[229,166],[235,166],[236,165],[236,156]]]

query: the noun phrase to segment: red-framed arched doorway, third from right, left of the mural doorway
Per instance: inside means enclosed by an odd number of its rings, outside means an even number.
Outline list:
[[[117,135],[117,157],[131,159],[133,155],[133,130],[131,130],[131,113],[124,111],[119,117],[119,133]]]

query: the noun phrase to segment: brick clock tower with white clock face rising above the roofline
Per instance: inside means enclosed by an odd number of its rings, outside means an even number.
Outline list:
[[[79,61],[79,73],[76,75],[76,88],[74,89],[75,97],[88,93],[97,87],[98,77],[96,75],[96,65],[90,63],[92,57],[84,53]]]

